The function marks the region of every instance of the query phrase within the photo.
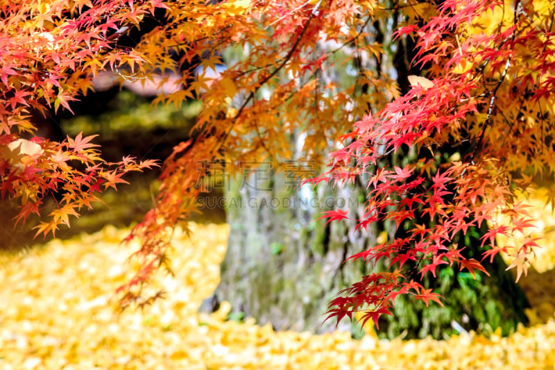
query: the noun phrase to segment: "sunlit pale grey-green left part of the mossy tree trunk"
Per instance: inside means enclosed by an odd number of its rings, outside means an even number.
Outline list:
[[[330,332],[335,323],[323,323],[327,303],[368,272],[361,262],[343,261],[375,242],[377,228],[362,237],[354,223],[318,220],[336,205],[354,214],[362,205],[356,190],[322,185],[298,190],[286,185],[285,177],[272,173],[268,184],[256,187],[232,182],[226,194],[229,246],[214,295],[229,301],[232,312],[277,330]],[[271,190],[264,190],[270,183]],[[351,323],[340,326],[350,330]]]

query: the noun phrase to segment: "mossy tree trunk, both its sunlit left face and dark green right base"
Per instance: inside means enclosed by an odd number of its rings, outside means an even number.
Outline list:
[[[334,321],[323,322],[331,299],[372,269],[384,268],[383,264],[371,267],[360,261],[343,262],[385,235],[379,235],[378,225],[361,232],[354,230],[354,221],[325,224],[318,217],[336,206],[348,209],[349,217],[360,216],[365,199],[361,189],[366,187],[332,190],[323,184],[316,190],[298,190],[284,185],[285,174],[264,174],[265,182],[253,180],[254,176],[232,181],[226,194],[228,251],[221,264],[221,283],[203,309],[229,301],[231,318],[254,317],[276,330],[334,330]],[[391,240],[394,231],[387,234]],[[477,237],[477,230],[471,230],[459,241],[470,255],[479,255]],[[504,334],[509,333],[517,323],[526,321],[527,300],[505,268],[496,258],[490,266],[492,277],[477,274],[476,280],[458,267],[438,270],[438,278],[427,276],[424,283],[445,298],[445,308],[436,303],[426,307],[422,301],[414,303],[412,298],[400,296],[393,308],[395,316],[380,319],[378,334],[441,339],[461,327],[486,333],[501,327]],[[338,328],[360,333],[348,320],[341,321]]]

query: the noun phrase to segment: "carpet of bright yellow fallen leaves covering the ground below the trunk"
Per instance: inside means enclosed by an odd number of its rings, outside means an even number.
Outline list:
[[[554,369],[555,321],[510,337],[385,341],[348,333],[275,333],[225,321],[228,305],[198,314],[219,281],[228,227],[175,234],[167,299],[114,313],[114,288],[132,272],[125,230],[53,239],[0,262],[0,369]]]

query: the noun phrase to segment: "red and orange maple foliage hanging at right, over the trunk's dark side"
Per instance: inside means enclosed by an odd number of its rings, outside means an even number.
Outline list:
[[[365,277],[346,289],[330,303],[330,317],[339,322],[365,310],[364,320],[371,318],[377,325],[379,314],[389,314],[398,294],[413,294],[426,304],[438,301],[431,289],[407,281],[413,276],[407,269],[400,272],[407,261],[421,276],[436,276],[442,264],[487,274],[481,262],[463,257],[454,242],[456,235],[485,221],[489,231],[481,237],[481,246],[487,246],[482,261],[505,251],[520,257],[511,266],[518,268],[517,280],[525,271],[538,244],[529,233],[533,220],[526,205],[514,202],[514,190],[525,190],[532,175],[554,176],[551,139],[546,139],[553,135],[546,121],[553,117],[555,97],[555,32],[546,16],[554,9],[546,9],[542,14],[531,1],[516,1],[510,8],[503,1],[449,0],[422,27],[398,30],[397,37],[418,35],[414,62],[431,65],[433,79],[414,78],[408,94],[359,121],[343,137],[345,148],[332,153],[333,169],[324,179],[341,183],[362,174],[370,177],[360,228],[375,221],[399,226],[419,219],[422,224],[404,239],[351,257],[369,262],[383,258],[399,270]],[[462,142],[470,145],[461,150],[461,161],[438,165],[433,157],[442,147]],[[432,159],[421,155],[405,167],[380,167],[380,159],[403,147],[432,153]],[[499,215],[508,215],[511,225],[499,224]],[[346,214],[332,211],[327,217],[343,219]],[[501,249],[495,245],[497,235],[518,236],[520,244]]]

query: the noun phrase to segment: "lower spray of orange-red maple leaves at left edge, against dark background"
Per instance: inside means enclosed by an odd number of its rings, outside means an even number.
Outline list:
[[[55,234],[60,224],[69,226],[70,215],[78,217],[84,206],[92,208],[91,203],[99,201],[96,194],[126,183],[121,178],[123,174],[155,165],[151,160],[137,164],[132,158],[106,163],[94,149],[98,145],[90,144],[93,138],[79,134],[58,144],[37,137],[32,141],[15,140],[13,135],[1,137],[3,157],[7,160],[0,162],[3,178],[0,192],[2,197],[21,199],[16,222],[25,221],[31,213],[41,215],[44,198],[56,194],[59,199],[49,212],[49,221],[41,221],[35,227],[37,235]]]

